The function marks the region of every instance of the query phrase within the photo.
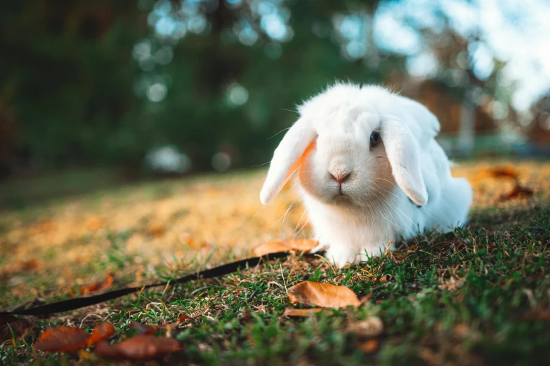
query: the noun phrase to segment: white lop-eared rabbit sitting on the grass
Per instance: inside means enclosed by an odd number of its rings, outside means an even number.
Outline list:
[[[470,184],[451,176],[426,107],[379,86],[336,83],[299,114],[275,149],[260,199],[269,203],[297,170],[318,248],[336,266],[466,222]]]

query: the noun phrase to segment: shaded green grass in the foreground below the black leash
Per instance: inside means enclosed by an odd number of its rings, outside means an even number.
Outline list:
[[[164,360],[171,364],[545,365],[550,211],[545,203],[506,212],[509,221],[502,223],[503,213],[476,212],[467,229],[400,243],[391,255],[360,266],[336,270],[321,259],[294,258],[144,291],[110,304],[108,320],[124,334],[131,321],[169,323],[189,315],[192,325],[173,331],[185,350]],[[193,266],[198,264],[186,268]],[[386,275],[390,279],[381,281]],[[285,286],[306,279],[372,297],[358,309],[284,318],[290,306]],[[365,354],[358,348],[365,339],[348,332],[348,325],[372,316],[382,320],[384,333],[379,350]],[[56,318],[39,326],[52,325]],[[30,342],[0,351],[6,365],[53,365],[67,357],[76,356],[33,353]],[[83,362],[98,361],[92,356]]]

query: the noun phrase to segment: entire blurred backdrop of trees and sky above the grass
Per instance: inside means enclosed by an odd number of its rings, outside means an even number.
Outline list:
[[[0,203],[262,165],[336,80],[425,104],[452,158],[550,156],[549,19],[545,0],[3,1]]]

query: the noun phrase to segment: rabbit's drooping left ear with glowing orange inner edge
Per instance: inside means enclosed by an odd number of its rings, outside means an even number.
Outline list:
[[[315,147],[316,137],[315,130],[303,118],[287,131],[271,159],[268,177],[260,192],[261,203],[266,205],[277,196],[284,183]]]

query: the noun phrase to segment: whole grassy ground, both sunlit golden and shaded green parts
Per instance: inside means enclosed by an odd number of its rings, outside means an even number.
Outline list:
[[[513,166],[533,196],[503,198]],[[359,266],[336,270],[296,254],[223,278],[144,291],[34,320],[117,328],[188,315],[172,337],[184,350],[159,363],[207,365],[537,365],[549,364],[550,163],[464,163],[453,174],[473,184],[467,226],[398,243]],[[264,170],[104,188],[0,211],[0,308],[51,302],[114,273],[112,288],[143,285],[251,256],[273,238],[310,236],[291,187],[262,206]],[[23,187],[23,186],[21,186]],[[13,189],[13,187],[12,187]],[[25,194],[20,194],[23,201]],[[358,309],[286,318],[287,288],[302,280],[345,285]],[[357,330],[377,318],[381,334]],[[6,364],[96,364],[93,353],[43,353],[32,338],[8,341]]]

